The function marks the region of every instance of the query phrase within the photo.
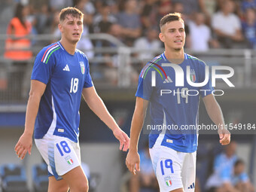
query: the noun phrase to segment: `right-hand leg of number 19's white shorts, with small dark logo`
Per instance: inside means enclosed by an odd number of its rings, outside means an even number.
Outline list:
[[[193,192],[196,184],[197,151],[187,153],[181,171],[182,183],[185,192]]]

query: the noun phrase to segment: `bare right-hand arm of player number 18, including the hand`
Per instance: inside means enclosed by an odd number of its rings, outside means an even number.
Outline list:
[[[120,129],[114,118],[109,114],[95,88],[84,88],[82,94],[90,109],[113,131],[114,136],[120,142],[120,150],[123,148],[123,151],[127,151],[130,145],[130,138]]]

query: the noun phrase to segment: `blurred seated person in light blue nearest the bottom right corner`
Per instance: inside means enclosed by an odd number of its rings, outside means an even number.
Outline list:
[[[254,187],[251,184],[248,175],[245,173],[245,163],[243,160],[236,160],[233,174],[230,177],[231,182],[237,190],[242,192],[253,192]]]

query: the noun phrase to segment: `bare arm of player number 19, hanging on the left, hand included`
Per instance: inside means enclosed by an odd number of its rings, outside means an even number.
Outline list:
[[[136,171],[140,171],[138,142],[140,133],[142,131],[147,107],[148,100],[142,99],[141,97],[137,96],[136,107],[133,113],[133,120],[130,130],[130,148],[126,156],[126,166],[129,171],[133,173],[133,175],[136,175]]]

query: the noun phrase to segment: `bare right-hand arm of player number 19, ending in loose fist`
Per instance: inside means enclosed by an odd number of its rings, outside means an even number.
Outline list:
[[[218,126],[218,135],[220,137],[221,145],[227,145],[230,143],[230,132],[226,129],[224,123],[224,117],[221,111],[220,105],[215,99],[215,96],[209,94],[203,97],[203,102],[206,106],[206,111],[211,120]]]

